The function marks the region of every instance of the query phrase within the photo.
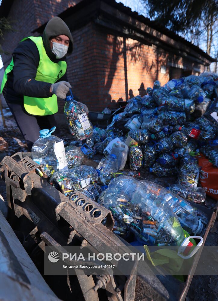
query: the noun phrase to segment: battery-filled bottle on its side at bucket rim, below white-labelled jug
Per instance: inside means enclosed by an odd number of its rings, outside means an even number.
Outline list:
[[[97,182],[100,174],[92,166],[81,165],[66,171],[56,171],[50,179],[50,184],[59,188],[64,195],[70,195],[90,183]]]

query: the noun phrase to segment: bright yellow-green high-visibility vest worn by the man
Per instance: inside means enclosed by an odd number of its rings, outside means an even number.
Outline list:
[[[39,82],[49,82],[51,84],[55,83],[66,73],[67,63],[65,61],[54,63],[50,60],[43,46],[42,37],[27,37],[20,42],[26,39],[32,40],[39,50],[39,66],[37,67],[35,79]],[[5,83],[7,82],[8,73],[11,72],[13,68],[14,61],[12,58],[11,63],[5,69],[0,93],[2,93]],[[24,95],[23,104],[25,110],[31,115],[45,116],[58,112],[58,101],[55,94],[48,98],[36,98]]]

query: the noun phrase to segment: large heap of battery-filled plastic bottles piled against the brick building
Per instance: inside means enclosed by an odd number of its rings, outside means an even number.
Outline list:
[[[218,123],[211,115],[217,112],[217,87],[215,73],[173,79],[162,87],[155,81],[147,95],[129,99],[124,112],[114,114],[97,152],[102,153],[101,145],[105,149],[110,137],[118,137],[128,144],[127,164],[133,171],[143,168],[158,177],[173,176],[175,183],[196,188],[199,152],[218,165]],[[186,198],[197,200],[194,192]]]

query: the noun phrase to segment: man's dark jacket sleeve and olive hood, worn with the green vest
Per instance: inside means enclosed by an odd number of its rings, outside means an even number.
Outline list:
[[[51,51],[49,40],[59,35],[68,36],[70,43],[67,54],[61,59],[56,59],[55,54]],[[48,21],[42,40],[45,51],[53,62],[66,61],[66,56],[70,55],[73,51],[73,38],[70,29],[59,17],[54,17]],[[8,80],[3,89],[6,101],[23,104],[23,95],[39,98],[51,97],[51,83],[35,80],[39,66],[39,51],[36,44],[30,39],[20,42],[12,56],[14,59],[14,69],[8,74]],[[62,80],[67,81],[66,73],[57,82]]]

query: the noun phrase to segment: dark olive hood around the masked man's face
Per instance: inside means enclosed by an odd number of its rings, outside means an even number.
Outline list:
[[[45,29],[43,31],[42,40],[45,46],[45,51],[52,61],[63,61],[63,57],[61,59],[56,59],[55,54],[51,51],[50,39],[55,36],[65,35],[70,39],[69,47],[67,54],[64,56],[68,56],[73,52],[73,38],[70,33],[70,29],[67,24],[59,17],[54,17],[48,21]]]

